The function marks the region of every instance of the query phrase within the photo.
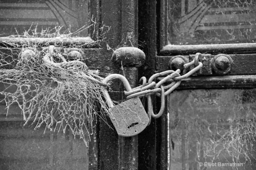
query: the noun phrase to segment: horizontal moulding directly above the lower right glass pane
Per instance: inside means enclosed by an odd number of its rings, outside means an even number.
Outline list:
[[[164,77],[157,78],[158,81]],[[167,81],[169,84],[171,81]],[[239,75],[239,76],[191,76],[181,80],[177,89],[187,88],[255,88],[256,75]]]

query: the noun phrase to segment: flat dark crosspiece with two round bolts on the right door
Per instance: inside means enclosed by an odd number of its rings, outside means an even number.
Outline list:
[[[173,70],[173,66],[186,63],[183,58],[191,62],[194,60],[194,57],[195,55],[156,56],[156,68],[158,68],[158,72]],[[256,54],[203,54],[201,59],[203,67],[195,75],[255,75],[255,57]],[[176,60],[178,63],[175,63]],[[184,62],[181,60],[184,60]],[[193,69],[193,66],[190,67],[191,69]],[[181,71],[181,74],[185,73],[186,70]]]

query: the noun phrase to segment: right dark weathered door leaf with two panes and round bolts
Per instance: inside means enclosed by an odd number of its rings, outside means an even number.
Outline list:
[[[196,53],[203,68],[182,80],[141,134],[139,167],[255,169],[255,1],[140,2],[148,10],[139,6],[139,17],[151,16],[140,21],[149,56],[141,74],[177,69],[173,57],[186,63]]]

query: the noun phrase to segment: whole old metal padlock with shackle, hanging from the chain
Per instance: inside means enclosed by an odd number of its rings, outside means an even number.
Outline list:
[[[113,78],[120,79],[123,82],[127,92],[132,90],[128,80],[120,74],[111,74],[107,76],[103,82],[108,83],[108,80]],[[108,94],[107,88],[105,86],[101,86],[101,90],[108,103],[108,115],[119,136],[135,136],[147,127],[149,118],[139,97],[134,97],[114,106]]]

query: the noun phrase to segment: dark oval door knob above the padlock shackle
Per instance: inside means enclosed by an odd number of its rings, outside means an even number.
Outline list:
[[[125,67],[140,67],[145,59],[144,52],[134,47],[117,48],[112,55],[113,63]]]

